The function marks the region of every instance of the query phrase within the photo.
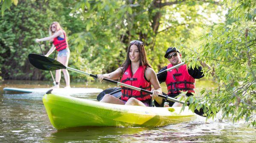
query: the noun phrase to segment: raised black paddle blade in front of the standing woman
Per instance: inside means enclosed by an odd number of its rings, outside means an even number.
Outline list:
[[[55,59],[38,55],[35,53],[29,54],[29,62],[34,67],[40,69],[40,70],[60,70],[60,69],[66,69],[66,67],[61,64],[60,62],[56,61]]]

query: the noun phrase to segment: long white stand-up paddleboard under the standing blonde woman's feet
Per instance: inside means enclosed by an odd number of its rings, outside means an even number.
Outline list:
[[[46,93],[50,88],[12,88],[5,87],[3,91],[8,92],[18,92],[18,93]],[[102,89],[99,88],[54,88],[52,93],[61,93],[61,94],[88,94],[88,93],[100,93]]]

